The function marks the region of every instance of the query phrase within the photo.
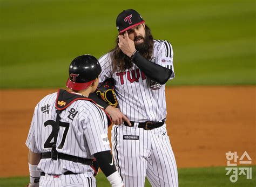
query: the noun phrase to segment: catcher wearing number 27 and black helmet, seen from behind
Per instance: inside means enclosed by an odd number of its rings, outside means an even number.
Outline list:
[[[111,119],[87,98],[98,86],[102,71],[90,55],[75,58],[69,67],[68,91],[45,96],[35,107],[26,146],[29,186],[96,186],[97,163],[110,184],[123,186],[107,138]]]

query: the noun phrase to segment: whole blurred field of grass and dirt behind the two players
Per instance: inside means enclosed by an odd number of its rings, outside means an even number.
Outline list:
[[[176,78],[166,96],[180,186],[255,186],[255,166],[252,179],[237,183],[224,168],[227,151],[250,151],[256,160],[253,0],[0,0],[0,186],[28,183],[5,177],[28,176],[22,167],[33,108],[65,87],[75,57],[99,58],[114,47],[125,9],[137,10],[153,37],[173,47]],[[102,174],[98,182],[108,184]]]

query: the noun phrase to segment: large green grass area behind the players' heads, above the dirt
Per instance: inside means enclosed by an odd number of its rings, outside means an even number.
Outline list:
[[[73,58],[114,46],[116,17],[129,8],[173,45],[169,84],[255,84],[253,0],[0,0],[0,88],[65,86]]]

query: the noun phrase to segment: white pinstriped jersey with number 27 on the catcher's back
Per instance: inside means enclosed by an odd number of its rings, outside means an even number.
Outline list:
[[[26,146],[34,153],[51,151],[52,125],[56,120],[57,93],[45,96],[35,107]],[[60,113],[57,151],[83,158],[110,150],[107,138],[107,117],[102,109],[86,100],[77,100]],[[66,160],[42,159],[38,169],[46,174],[60,175],[65,171],[93,176],[89,165]]]

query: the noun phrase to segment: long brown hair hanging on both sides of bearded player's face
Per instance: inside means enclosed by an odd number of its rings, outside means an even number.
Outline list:
[[[145,41],[146,43],[146,49],[143,51],[139,51],[139,53],[145,57],[147,60],[150,60],[152,58],[152,52],[153,52],[153,45],[154,45],[154,41],[153,41],[153,36],[151,34],[151,30],[150,28],[145,25]],[[130,61],[130,58],[123,53],[122,50],[120,50],[119,46],[118,46],[118,36],[116,39],[116,46],[114,47],[114,49],[112,49],[110,51],[111,53],[111,60],[112,60],[112,68],[113,68],[113,72],[117,72],[119,71],[125,71],[126,69],[130,69],[133,65],[132,61]]]

